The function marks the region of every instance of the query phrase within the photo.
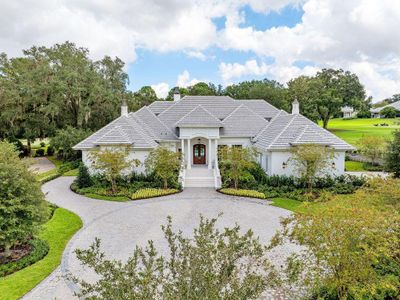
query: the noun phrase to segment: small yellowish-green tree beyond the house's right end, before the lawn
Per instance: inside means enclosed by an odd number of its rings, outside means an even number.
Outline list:
[[[386,150],[386,140],[381,136],[364,135],[358,141],[358,150],[376,165]]]

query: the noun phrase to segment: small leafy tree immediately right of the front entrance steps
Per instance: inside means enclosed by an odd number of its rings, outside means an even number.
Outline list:
[[[220,150],[220,168],[224,179],[239,188],[240,180],[252,177],[249,169],[255,167],[256,151],[252,148],[224,147]]]

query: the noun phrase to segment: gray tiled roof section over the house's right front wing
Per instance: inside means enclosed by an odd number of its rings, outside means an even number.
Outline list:
[[[278,115],[254,139],[260,149],[285,149],[292,145],[320,144],[338,150],[355,148],[302,115]]]

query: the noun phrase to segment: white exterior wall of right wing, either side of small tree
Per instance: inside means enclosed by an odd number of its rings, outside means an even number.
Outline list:
[[[291,154],[288,151],[270,152],[269,155],[269,168],[267,173],[269,175],[286,175],[286,176],[298,176],[294,163],[290,161]],[[328,167],[325,172],[332,176],[339,176],[344,174],[344,161],[345,152],[335,151],[335,156],[332,159],[332,163],[335,163],[335,168]],[[286,163],[286,167],[283,168],[283,163]]]

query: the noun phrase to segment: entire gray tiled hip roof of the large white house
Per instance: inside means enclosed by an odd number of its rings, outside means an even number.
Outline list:
[[[178,140],[177,127],[185,126],[220,127],[221,137],[250,137],[263,150],[308,143],[354,149],[302,115],[288,114],[264,100],[234,100],[227,96],[185,96],[179,101],[153,102],[117,118],[74,149],[115,144],[154,148],[159,141]]]

